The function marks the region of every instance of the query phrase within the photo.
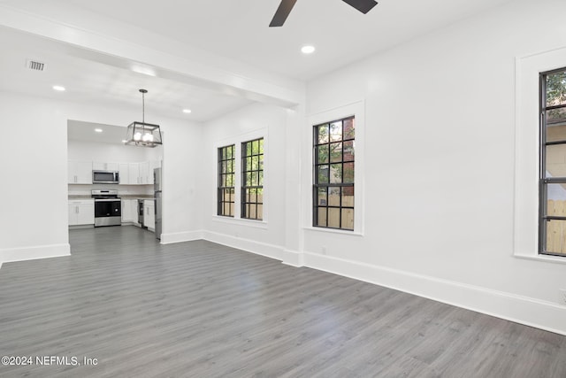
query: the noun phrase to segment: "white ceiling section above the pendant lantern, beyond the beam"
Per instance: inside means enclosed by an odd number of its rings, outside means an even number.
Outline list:
[[[250,103],[238,96],[78,58],[64,43],[12,29],[0,28],[0,46],[4,47],[0,54],[0,90],[101,105],[123,104],[132,109],[133,121],[142,120],[139,89],[149,90],[145,95],[147,114],[186,120],[210,120]],[[44,70],[27,68],[28,58],[45,63]],[[63,85],[67,90],[55,92],[53,85]],[[185,114],[185,108],[193,112]]]

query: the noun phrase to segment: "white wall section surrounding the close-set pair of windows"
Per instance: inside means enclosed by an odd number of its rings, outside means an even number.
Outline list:
[[[286,124],[287,110],[268,104],[251,104],[205,123],[203,146],[206,153],[200,196],[203,198],[203,227],[207,239],[283,259],[287,203]],[[218,147],[260,136],[264,137],[264,221],[218,217]]]

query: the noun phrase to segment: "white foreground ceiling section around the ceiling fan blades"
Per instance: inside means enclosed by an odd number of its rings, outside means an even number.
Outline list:
[[[21,1],[21,0],[14,0]],[[363,15],[340,0],[298,0],[268,27],[279,0],[74,0],[90,12],[308,80],[509,0],[379,0]],[[303,44],[317,47],[305,57]]]

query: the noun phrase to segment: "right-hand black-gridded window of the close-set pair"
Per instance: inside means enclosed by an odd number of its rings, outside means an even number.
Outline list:
[[[264,215],[264,138],[241,143],[241,218]]]

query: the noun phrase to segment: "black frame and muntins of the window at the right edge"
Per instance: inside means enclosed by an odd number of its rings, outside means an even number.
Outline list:
[[[548,215],[548,185],[566,184],[566,176],[547,177],[547,146],[566,145],[566,138],[547,142],[547,112],[558,109],[566,110],[566,103],[547,104],[547,77],[555,73],[566,73],[566,67],[539,74],[539,254],[566,257],[566,252],[547,251],[548,225],[552,220],[566,220],[565,216]]]

